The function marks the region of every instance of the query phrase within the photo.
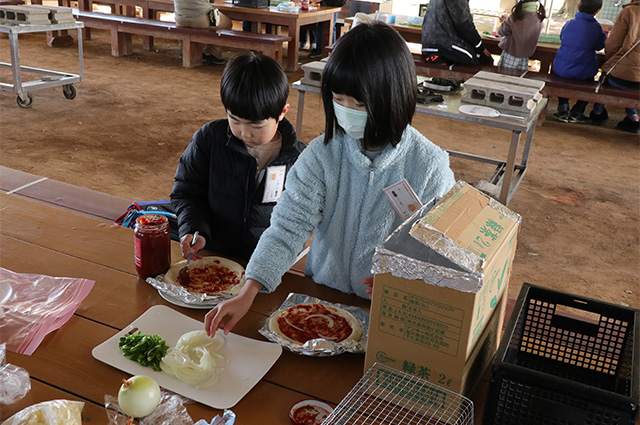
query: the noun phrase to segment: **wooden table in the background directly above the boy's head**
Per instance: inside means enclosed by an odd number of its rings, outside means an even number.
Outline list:
[[[287,48],[286,71],[296,71],[298,66],[298,37],[300,28],[305,25],[322,24],[322,48],[331,44],[334,15],[339,7],[317,6],[315,10],[301,10],[299,13],[278,12],[275,7],[257,9],[234,6],[230,2],[216,2],[214,7],[230,19],[252,22],[253,31],[258,31],[261,24],[287,27],[287,35],[291,37]]]

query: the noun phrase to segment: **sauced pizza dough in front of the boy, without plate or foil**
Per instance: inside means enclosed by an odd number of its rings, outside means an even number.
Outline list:
[[[166,283],[181,286],[191,293],[219,294],[221,292],[237,295],[244,285],[244,268],[235,261],[222,257],[204,257],[191,260],[189,264],[189,285],[182,286],[178,274],[187,265],[182,260],[167,271]]]

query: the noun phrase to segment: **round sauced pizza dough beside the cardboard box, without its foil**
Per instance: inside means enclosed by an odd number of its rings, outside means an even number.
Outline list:
[[[268,324],[270,331],[295,345],[304,345],[316,338],[336,343],[362,338],[362,326],[351,313],[320,303],[297,304],[277,310]]]

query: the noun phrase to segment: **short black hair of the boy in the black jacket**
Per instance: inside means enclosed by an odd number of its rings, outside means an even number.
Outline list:
[[[220,82],[225,109],[238,118],[262,121],[280,117],[289,97],[289,81],[269,56],[241,54],[227,62]]]

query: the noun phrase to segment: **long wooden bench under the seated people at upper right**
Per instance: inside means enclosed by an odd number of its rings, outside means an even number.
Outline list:
[[[414,55],[416,71],[418,75],[431,77],[457,78],[466,80],[473,77],[478,71],[489,71],[506,74],[492,65],[445,65],[427,63],[422,57]],[[509,73],[509,75],[514,75]],[[517,75],[517,74],[515,74]],[[596,93],[597,81],[582,81],[558,77],[544,72],[527,71],[519,75],[524,78],[544,81],[542,93],[547,97],[566,97],[568,99],[584,100],[587,102],[604,103],[610,106],[640,109],[640,97],[633,90],[617,89],[602,85]]]

